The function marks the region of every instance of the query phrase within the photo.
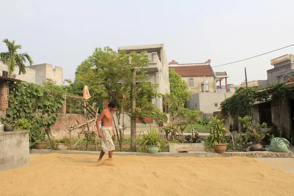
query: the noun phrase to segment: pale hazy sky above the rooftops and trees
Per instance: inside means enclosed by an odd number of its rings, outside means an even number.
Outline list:
[[[35,64],[63,79],[96,47],[164,44],[168,60],[212,66],[294,44],[294,0],[0,0],[0,40],[16,40]],[[0,43],[0,51],[6,46]],[[228,83],[267,79],[270,60],[294,46],[215,68]]]

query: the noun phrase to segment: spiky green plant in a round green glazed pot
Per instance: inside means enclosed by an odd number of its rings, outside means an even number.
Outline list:
[[[148,132],[148,134],[143,133],[142,144],[140,145],[143,152],[147,150],[149,153],[157,153],[160,151],[160,147],[163,146],[164,141],[160,137],[159,133],[156,132],[156,128],[151,130],[150,127],[150,132]]]

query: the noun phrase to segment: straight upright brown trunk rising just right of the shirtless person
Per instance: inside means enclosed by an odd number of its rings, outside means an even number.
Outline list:
[[[131,152],[136,152],[136,70],[132,70],[133,82],[131,85]]]

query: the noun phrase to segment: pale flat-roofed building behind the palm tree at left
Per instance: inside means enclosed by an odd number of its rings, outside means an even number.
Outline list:
[[[0,76],[9,77],[9,71],[6,65],[0,61]],[[63,69],[61,67],[50,65],[48,63],[32,65],[26,67],[26,73],[19,75],[19,69],[12,73],[12,78],[19,79],[29,83],[43,85],[47,81],[55,81],[57,85],[62,85]]]

